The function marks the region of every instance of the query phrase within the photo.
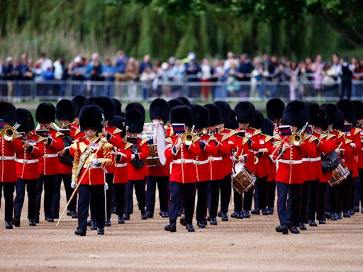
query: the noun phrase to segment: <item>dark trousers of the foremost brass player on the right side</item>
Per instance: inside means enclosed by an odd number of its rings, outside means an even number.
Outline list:
[[[291,227],[298,227],[302,188],[303,184],[277,182],[277,213],[281,225],[290,221]]]

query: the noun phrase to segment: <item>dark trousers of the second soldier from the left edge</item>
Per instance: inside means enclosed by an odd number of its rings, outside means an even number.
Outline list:
[[[28,219],[35,219],[36,188],[38,179],[18,179],[15,184],[14,217],[20,219],[26,191],[28,192]]]

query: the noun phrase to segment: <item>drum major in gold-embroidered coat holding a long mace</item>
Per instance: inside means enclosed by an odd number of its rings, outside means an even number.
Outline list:
[[[72,144],[74,162],[72,188],[78,189],[78,227],[75,234],[86,235],[86,220],[90,198],[94,201],[97,234],[104,234],[105,225],[105,167],[113,164],[112,145],[101,138],[104,115],[99,106],[84,106],[79,114],[79,123],[86,137]]]

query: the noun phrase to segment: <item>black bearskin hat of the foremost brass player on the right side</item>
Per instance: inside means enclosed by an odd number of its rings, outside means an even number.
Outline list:
[[[302,101],[291,101],[289,102],[282,114],[282,122],[285,125],[293,125],[298,129],[303,126],[309,120],[309,108],[305,102]]]

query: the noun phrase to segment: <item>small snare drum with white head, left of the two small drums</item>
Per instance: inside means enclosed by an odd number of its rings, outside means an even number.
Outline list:
[[[255,185],[256,177],[251,173],[247,167],[238,163],[233,167],[232,186],[238,193],[246,193]]]

